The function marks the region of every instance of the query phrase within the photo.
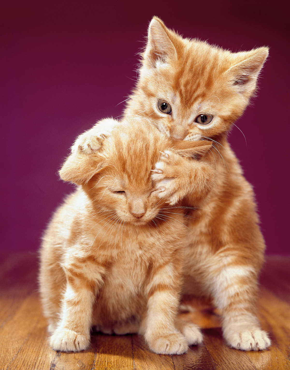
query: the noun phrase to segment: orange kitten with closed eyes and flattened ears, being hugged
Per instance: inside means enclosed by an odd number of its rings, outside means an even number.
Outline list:
[[[156,353],[184,353],[202,341],[195,324],[176,318],[186,220],[182,207],[158,197],[151,170],[159,151],[186,163],[211,144],[178,148],[145,118],[99,125],[102,134],[81,135],[61,168],[61,178],[79,187],[43,237],[39,281],[51,347],[86,349],[95,326],[142,333]],[[205,194],[213,176],[203,183]]]

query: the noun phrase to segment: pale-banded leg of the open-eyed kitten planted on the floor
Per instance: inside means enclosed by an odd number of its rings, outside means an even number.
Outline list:
[[[255,314],[257,276],[251,266],[226,266],[213,279],[215,305],[222,311],[223,336],[230,347],[252,351],[271,342]]]

